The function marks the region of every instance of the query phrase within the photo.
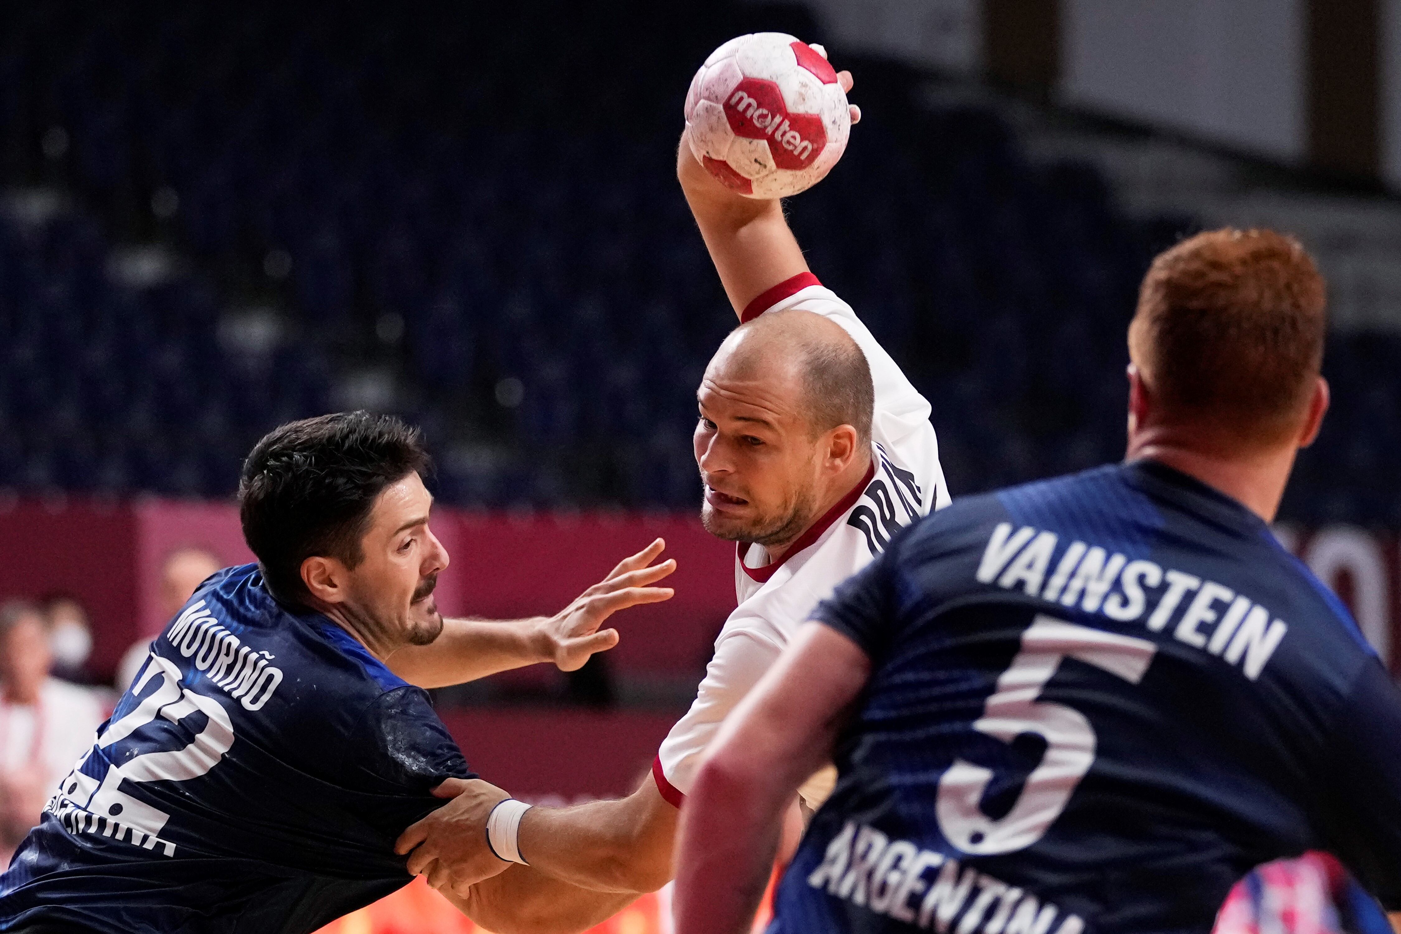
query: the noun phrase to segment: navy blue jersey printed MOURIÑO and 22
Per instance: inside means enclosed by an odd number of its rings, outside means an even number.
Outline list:
[[[475,776],[423,690],[223,570],[0,877],[0,930],[312,931],[409,882],[394,840],[448,777]]]

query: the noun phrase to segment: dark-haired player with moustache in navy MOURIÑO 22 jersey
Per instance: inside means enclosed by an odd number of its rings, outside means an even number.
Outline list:
[[[422,686],[608,647],[660,542],[552,619],[444,623],[417,431],[286,424],[244,463],[258,564],[210,577],[0,878],[4,931],[312,931],[405,885],[395,836],[475,781]],[[419,685],[419,686],[415,686]],[[472,781],[469,781],[472,784]],[[482,875],[499,871],[490,858]]]

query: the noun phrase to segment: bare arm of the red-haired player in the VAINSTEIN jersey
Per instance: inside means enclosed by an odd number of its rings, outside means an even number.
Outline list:
[[[831,760],[870,660],[804,623],[726,720],[691,791],[677,842],[678,934],[748,931],[773,864],[785,804]]]

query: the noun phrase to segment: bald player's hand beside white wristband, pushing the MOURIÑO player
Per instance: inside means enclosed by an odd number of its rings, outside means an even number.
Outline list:
[[[458,895],[510,865],[486,844],[486,818],[510,795],[481,779],[448,779],[433,797],[451,801],[399,835],[394,851],[409,854],[408,870],[434,889]]]

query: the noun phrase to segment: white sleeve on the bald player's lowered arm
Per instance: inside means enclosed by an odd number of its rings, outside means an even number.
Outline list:
[[[750,693],[782,651],[776,641],[748,629],[720,634],[691,710],[677,721],[657,752],[651,772],[663,798],[681,807],[726,714]]]

